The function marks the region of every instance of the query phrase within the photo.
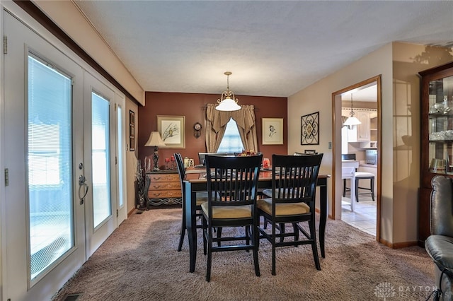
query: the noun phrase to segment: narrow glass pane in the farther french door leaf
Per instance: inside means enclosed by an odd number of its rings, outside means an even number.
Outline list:
[[[93,165],[93,227],[112,213],[110,206],[109,102],[91,93],[91,158]]]

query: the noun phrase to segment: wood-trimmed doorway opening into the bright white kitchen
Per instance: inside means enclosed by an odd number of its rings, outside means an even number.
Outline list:
[[[332,93],[332,107],[332,216],[336,220],[344,220],[359,230],[375,235],[379,241],[381,76],[369,78]],[[357,117],[359,119],[357,123],[360,124],[345,126],[345,121],[350,116]],[[348,170],[352,172],[350,177],[344,175]],[[358,182],[357,187],[361,187],[358,189],[358,195],[355,194],[356,172],[369,172],[367,179],[360,179]],[[370,177],[374,179],[373,184]],[[372,191],[362,188],[372,188],[374,201]]]

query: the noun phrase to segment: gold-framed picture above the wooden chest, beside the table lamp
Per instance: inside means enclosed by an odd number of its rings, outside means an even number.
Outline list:
[[[157,131],[165,143],[159,148],[185,148],[185,116],[157,115]]]

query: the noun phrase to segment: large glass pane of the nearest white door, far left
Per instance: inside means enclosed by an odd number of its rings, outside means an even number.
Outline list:
[[[74,246],[71,78],[28,57],[30,279]]]

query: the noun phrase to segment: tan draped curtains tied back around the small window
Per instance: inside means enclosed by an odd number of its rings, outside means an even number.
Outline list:
[[[258,152],[256,138],[255,107],[243,105],[241,110],[224,112],[215,110],[216,105],[206,107],[206,149],[208,153],[216,153],[225,134],[226,124],[232,118],[239,130],[241,141],[246,150]]]

